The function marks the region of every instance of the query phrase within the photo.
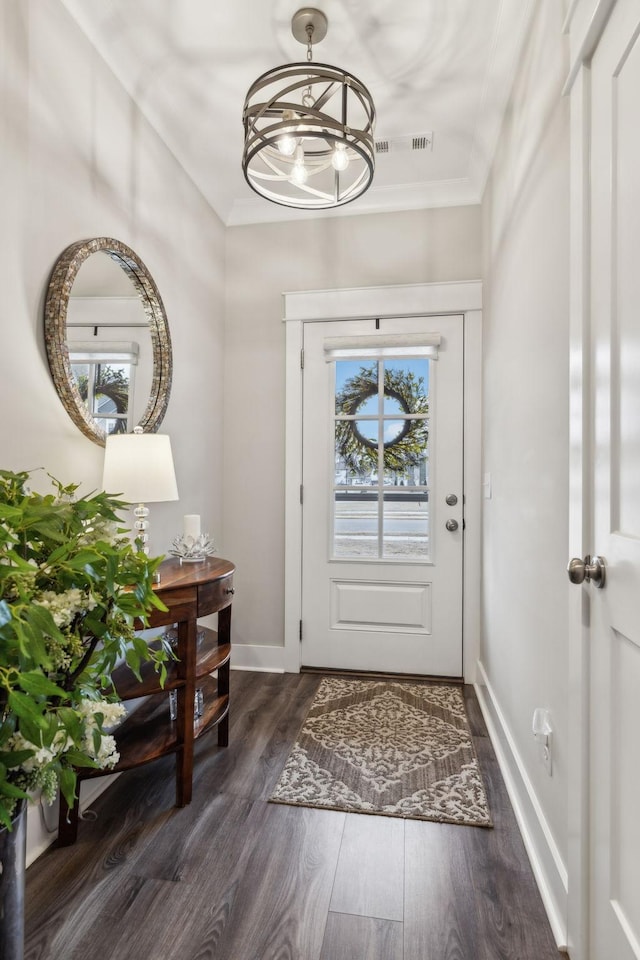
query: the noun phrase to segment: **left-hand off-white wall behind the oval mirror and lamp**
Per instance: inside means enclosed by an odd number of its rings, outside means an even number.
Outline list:
[[[62,250],[111,236],[146,263],[173,338],[161,429],[180,501],[152,507],[151,551],[167,549],[185,513],[219,530],[223,227],[57,0],[0,4],[0,144],[0,468],[100,485],[103,448],[56,395],[42,309]]]

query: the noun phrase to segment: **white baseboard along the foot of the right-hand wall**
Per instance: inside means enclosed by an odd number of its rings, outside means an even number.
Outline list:
[[[482,663],[474,684],[558,950],[567,950],[568,874]]]

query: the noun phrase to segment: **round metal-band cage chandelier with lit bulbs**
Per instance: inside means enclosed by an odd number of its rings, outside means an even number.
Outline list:
[[[247,93],[242,170],[256,193],[285,207],[325,210],[361,196],[373,179],[375,107],[357,77],[312,62],[327,33],[320,10],[294,14],[306,62],[263,73]]]

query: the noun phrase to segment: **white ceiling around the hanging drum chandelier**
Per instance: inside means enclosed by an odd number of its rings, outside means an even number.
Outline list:
[[[478,203],[535,0],[315,0],[329,20],[314,59],[371,92],[372,187],[338,211],[257,196],[241,170],[242,108],[266,70],[305,59],[299,0],[62,0],[227,225]],[[429,149],[397,149],[428,135]]]

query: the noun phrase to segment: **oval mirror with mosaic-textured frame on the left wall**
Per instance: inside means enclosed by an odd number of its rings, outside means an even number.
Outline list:
[[[171,337],[158,288],[130,247],[110,237],[67,247],[49,280],[44,331],[58,396],[85,436],[104,445],[110,433],[158,429]]]

